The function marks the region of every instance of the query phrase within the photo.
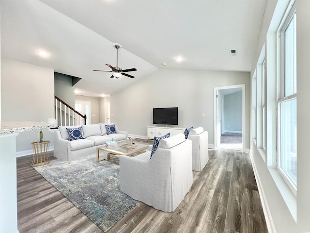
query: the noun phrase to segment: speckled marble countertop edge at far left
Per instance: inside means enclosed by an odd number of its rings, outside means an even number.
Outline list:
[[[52,124],[36,121],[1,121],[0,135],[26,132],[31,130],[40,130],[51,127]]]

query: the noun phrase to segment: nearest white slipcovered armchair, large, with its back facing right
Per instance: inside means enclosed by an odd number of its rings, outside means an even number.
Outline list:
[[[120,189],[135,200],[173,212],[193,183],[191,141],[179,133],[161,139],[151,151],[136,157],[120,156]]]

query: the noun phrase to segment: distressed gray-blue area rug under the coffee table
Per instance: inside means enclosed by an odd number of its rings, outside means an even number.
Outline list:
[[[119,168],[118,158],[97,162],[95,156],[35,167],[104,232],[138,203],[119,189]]]

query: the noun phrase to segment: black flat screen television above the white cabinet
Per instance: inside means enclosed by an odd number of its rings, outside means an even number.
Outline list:
[[[153,108],[153,124],[177,125],[178,108]]]

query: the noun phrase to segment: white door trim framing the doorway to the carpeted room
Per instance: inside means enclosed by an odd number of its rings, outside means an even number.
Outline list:
[[[217,91],[223,89],[242,88],[242,152],[246,149],[246,84],[220,86],[213,88],[213,144],[217,148]]]

